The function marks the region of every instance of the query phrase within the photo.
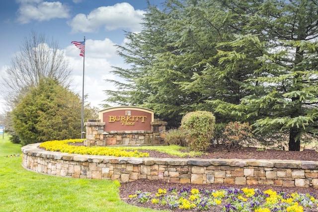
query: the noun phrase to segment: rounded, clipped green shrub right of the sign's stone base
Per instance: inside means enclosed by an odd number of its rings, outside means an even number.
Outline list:
[[[211,142],[215,128],[215,117],[208,111],[185,114],[181,120],[189,147],[195,151],[205,151]]]

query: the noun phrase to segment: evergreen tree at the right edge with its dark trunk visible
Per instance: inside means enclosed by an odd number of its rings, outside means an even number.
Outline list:
[[[250,95],[242,97],[240,104],[211,103],[217,104],[219,112],[255,120],[253,126],[258,133],[288,134],[289,150],[299,151],[304,135],[317,131],[317,3],[258,1],[255,11],[250,9],[251,4],[246,4],[250,1],[223,2],[228,11],[244,18],[246,26],[245,33],[237,35],[235,41],[223,44],[243,48],[236,48],[225,57],[221,52],[220,61],[227,60],[229,55],[244,58],[250,52],[255,66],[252,77],[247,79],[250,85],[241,87],[249,90]],[[254,47],[249,45],[250,38]]]

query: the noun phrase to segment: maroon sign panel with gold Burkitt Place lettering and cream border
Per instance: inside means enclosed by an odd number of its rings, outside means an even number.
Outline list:
[[[154,111],[141,107],[111,107],[99,111],[99,119],[105,122],[104,131],[152,130]]]

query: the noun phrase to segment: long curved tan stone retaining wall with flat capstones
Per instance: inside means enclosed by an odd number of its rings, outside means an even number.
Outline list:
[[[22,147],[26,169],[56,176],[129,182],[225,183],[318,188],[318,162],[294,160],[135,158],[45,151]]]

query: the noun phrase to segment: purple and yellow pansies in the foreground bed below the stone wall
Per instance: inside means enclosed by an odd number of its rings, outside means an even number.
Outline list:
[[[205,190],[184,187],[159,188],[156,194],[137,191],[130,195],[140,203],[151,202],[167,206],[169,209],[212,210],[222,212],[304,212],[316,211],[318,200],[312,194],[287,194],[271,189],[221,188],[220,190]]]

